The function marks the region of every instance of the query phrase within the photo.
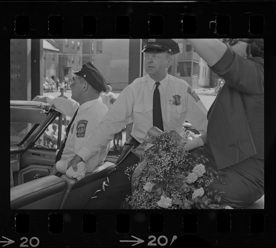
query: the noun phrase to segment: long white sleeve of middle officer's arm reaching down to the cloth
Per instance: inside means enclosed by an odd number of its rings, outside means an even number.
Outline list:
[[[82,147],[76,153],[84,162],[97,151],[105,147],[128,123],[132,115],[135,96],[131,86],[127,86],[120,93],[112,108],[102,119],[100,126],[85,140]]]

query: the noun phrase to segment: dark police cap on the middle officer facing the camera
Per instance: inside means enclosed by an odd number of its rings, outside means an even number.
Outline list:
[[[142,52],[168,52],[174,55],[180,52],[178,43],[172,39],[142,39]]]

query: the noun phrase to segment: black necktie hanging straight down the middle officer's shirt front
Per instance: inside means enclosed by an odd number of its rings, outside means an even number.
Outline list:
[[[156,82],[156,87],[153,92],[153,108],[152,108],[152,120],[153,120],[153,126],[158,127],[162,131],[164,131],[163,128],[163,120],[162,120],[162,112],[161,112],[161,105],[160,105],[160,93],[158,86],[160,85],[160,82]]]

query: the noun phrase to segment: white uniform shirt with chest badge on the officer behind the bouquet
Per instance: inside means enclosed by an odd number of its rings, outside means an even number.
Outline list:
[[[113,139],[132,116],[131,135],[142,143],[148,138],[147,131],[153,126],[152,105],[155,81],[145,75],[135,79],[124,88],[112,108],[103,118],[99,128],[84,142],[76,153],[84,161]],[[201,135],[207,130],[207,109],[195,91],[182,79],[167,75],[158,87],[164,130],[183,131],[185,120],[190,122]]]

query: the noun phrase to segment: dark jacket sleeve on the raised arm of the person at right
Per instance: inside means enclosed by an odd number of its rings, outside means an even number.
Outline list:
[[[264,93],[262,62],[261,58],[244,59],[227,48],[223,57],[210,69],[225,80],[225,85],[244,94],[259,95]]]

